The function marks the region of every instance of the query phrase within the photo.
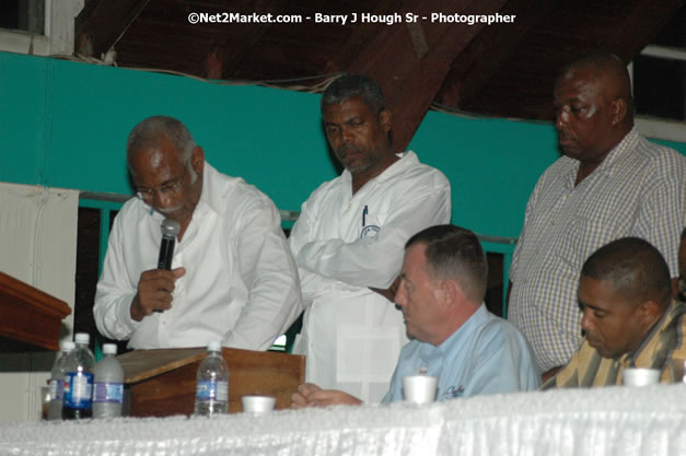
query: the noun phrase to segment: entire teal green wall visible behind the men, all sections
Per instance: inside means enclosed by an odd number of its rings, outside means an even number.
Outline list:
[[[0,180],[130,194],[125,141],[144,117],[182,119],[207,160],[280,209],[336,176],[318,95],[0,52]],[[686,144],[670,143],[686,154]],[[453,222],[518,236],[526,200],[559,155],[547,124],[431,112],[410,148],[451,179]]]

